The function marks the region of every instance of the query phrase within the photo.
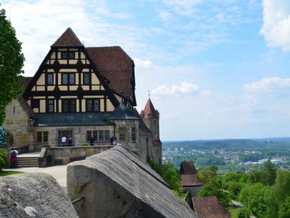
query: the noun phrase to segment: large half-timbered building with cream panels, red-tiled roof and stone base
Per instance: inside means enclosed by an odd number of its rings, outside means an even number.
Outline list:
[[[135,113],[134,68],[121,47],[85,47],[68,28],[35,75],[23,80],[23,95],[6,107],[10,145],[28,144],[35,150],[59,146],[64,136],[74,146],[91,137],[94,145],[109,145],[116,136],[117,143],[146,159],[156,130],[142,120],[144,111],[142,116]],[[159,113],[153,118],[159,139]],[[157,142],[154,146],[160,151],[150,156],[160,161],[161,141]]]

